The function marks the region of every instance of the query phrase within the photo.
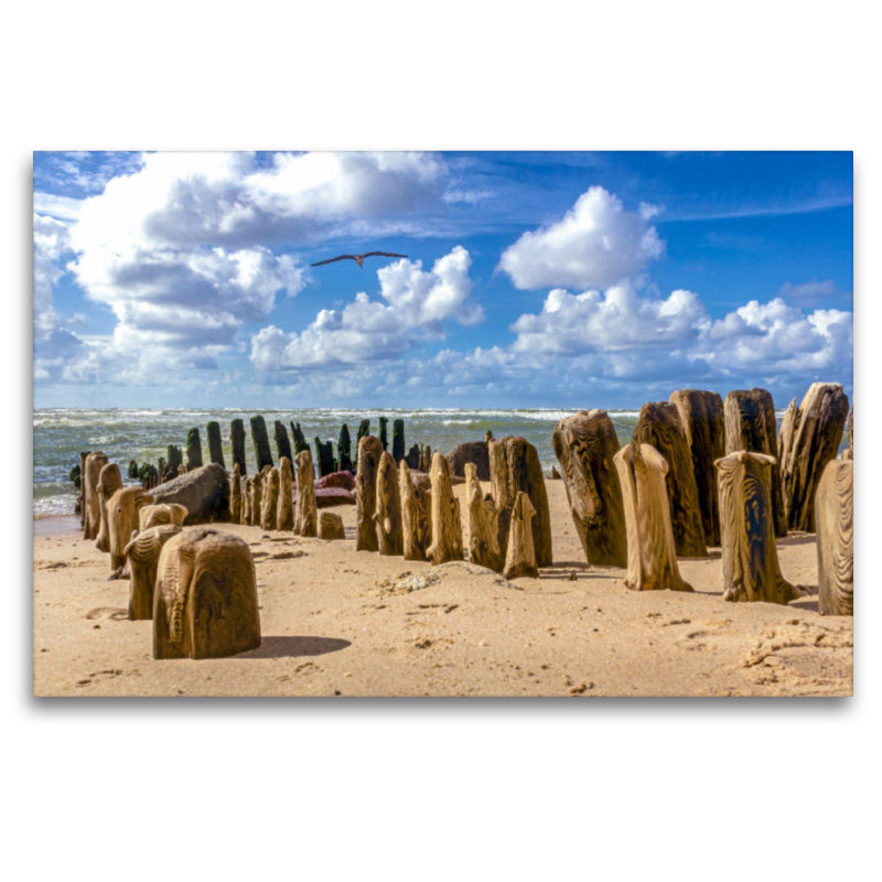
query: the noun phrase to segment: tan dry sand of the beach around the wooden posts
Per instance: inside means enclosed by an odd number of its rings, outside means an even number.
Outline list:
[[[34,695],[852,693],[852,620],[818,614],[814,536],[778,544],[784,577],[810,591],[789,606],[724,603],[719,549],[680,560],[695,593],[634,592],[584,562],[563,483],[547,487],[556,563],[516,583],[356,551],[354,506],[333,509],[345,541],[219,525],[251,545],[263,642],[202,662],[154,660],[153,623],[128,621],[129,583],[107,580],[78,520],[35,521]]]

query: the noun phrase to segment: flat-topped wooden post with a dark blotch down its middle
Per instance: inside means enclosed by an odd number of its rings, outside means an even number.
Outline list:
[[[800,595],[781,574],[775,548],[774,456],[739,451],[717,460],[723,600],[789,603]]]

